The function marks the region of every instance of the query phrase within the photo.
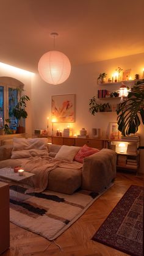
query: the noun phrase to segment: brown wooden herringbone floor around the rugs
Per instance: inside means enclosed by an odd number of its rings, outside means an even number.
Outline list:
[[[57,238],[55,242],[62,247],[63,251],[60,251],[54,243],[51,243],[48,247],[50,242],[45,238],[10,223],[10,249],[2,255],[126,255],[123,252],[92,241],[91,238],[131,185],[143,185],[143,177],[128,173],[117,173],[112,188],[99,197],[78,221]]]

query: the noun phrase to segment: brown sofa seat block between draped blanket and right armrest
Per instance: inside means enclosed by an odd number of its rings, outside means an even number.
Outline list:
[[[48,189],[65,194],[73,194],[81,187],[82,170],[57,167],[49,172]]]

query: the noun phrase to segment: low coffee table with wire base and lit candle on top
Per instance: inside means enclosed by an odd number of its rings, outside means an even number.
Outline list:
[[[28,194],[25,194],[25,191],[26,189],[31,189],[31,187],[24,184],[24,180],[31,179],[34,176],[35,174],[31,174],[31,172],[24,172],[23,176],[20,176],[11,167],[0,169],[0,178],[10,181],[10,186],[12,185],[13,189],[10,189],[10,199],[15,198],[17,201],[23,201],[30,197]]]

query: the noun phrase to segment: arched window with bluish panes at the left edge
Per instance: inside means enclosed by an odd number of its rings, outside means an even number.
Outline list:
[[[24,84],[15,78],[0,77],[0,128],[4,127],[5,119],[10,119],[9,127],[16,130],[17,120],[13,116],[13,107],[18,103],[18,91]]]

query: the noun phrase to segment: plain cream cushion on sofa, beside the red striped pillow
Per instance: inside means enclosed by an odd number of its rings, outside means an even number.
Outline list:
[[[79,151],[79,148],[80,147],[62,145],[59,152],[55,156],[55,159],[63,159],[63,160],[73,161],[74,156]]]

